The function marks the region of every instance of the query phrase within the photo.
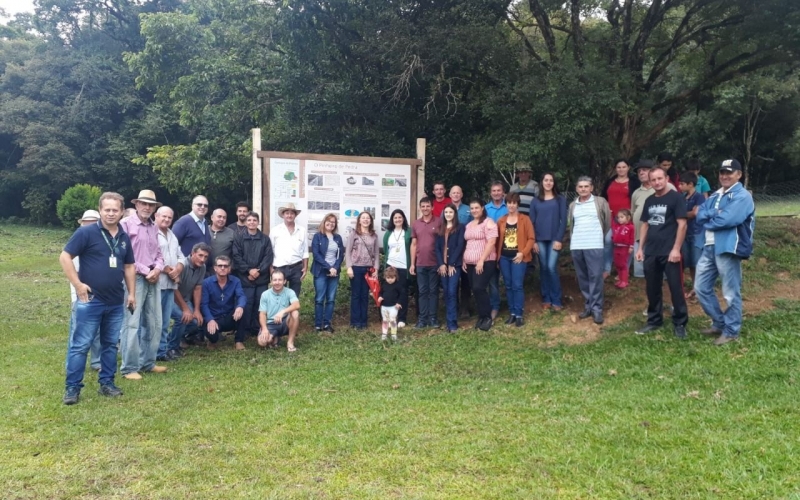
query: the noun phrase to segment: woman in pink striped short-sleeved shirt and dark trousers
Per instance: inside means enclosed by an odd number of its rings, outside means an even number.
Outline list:
[[[467,245],[464,250],[463,269],[469,275],[472,293],[478,306],[478,322],[476,328],[487,331],[492,327],[492,306],[489,303],[487,287],[497,272],[497,224],[486,216],[483,200],[473,198],[469,202],[469,213],[472,221],[467,224],[464,238]]]

